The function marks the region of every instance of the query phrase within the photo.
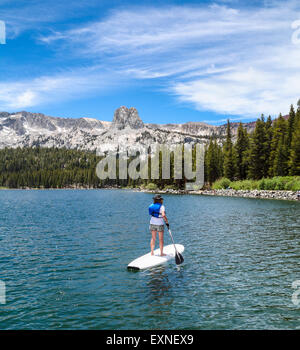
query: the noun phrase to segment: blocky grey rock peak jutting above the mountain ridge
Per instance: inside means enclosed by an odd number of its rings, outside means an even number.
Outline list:
[[[127,126],[131,129],[141,129],[144,127],[144,123],[139,117],[136,108],[131,107],[128,109],[122,106],[115,111],[112,127],[121,130]]]

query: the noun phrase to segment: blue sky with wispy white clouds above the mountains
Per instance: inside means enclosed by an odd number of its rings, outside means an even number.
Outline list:
[[[298,0],[0,0],[1,42],[0,111],[219,125],[300,98]]]

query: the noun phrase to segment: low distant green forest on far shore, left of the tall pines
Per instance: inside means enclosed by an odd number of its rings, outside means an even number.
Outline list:
[[[96,152],[66,148],[4,148],[0,150],[0,187],[5,188],[102,188],[109,186],[137,187],[155,182],[157,187],[184,187],[184,179],[170,179],[161,174],[156,180],[119,179],[119,162],[116,162],[116,179],[100,179],[96,173],[98,162],[103,157]],[[128,164],[134,157],[128,159]],[[149,178],[151,161],[149,161]],[[160,173],[162,158],[159,161]],[[137,170],[139,167],[137,167]],[[171,155],[171,168],[174,157]]]

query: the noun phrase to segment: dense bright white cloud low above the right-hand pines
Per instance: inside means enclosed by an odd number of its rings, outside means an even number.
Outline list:
[[[173,91],[181,101],[191,102],[199,110],[247,118],[259,117],[261,113],[274,116],[286,112],[290,103],[297,101],[300,93],[295,83],[299,79],[300,74],[294,81],[286,78],[275,88],[277,76],[241,68],[234,73],[174,84]]]

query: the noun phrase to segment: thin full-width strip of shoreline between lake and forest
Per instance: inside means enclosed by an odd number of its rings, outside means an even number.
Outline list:
[[[187,191],[187,190],[147,190],[144,188],[122,188],[115,186],[108,187],[63,187],[63,188],[36,188],[36,187],[26,187],[26,188],[6,188],[0,187],[1,190],[128,190],[134,192],[143,193],[159,193],[159,194],[176,194],[176,195],[200,195],[200,196],[217,196],[217,197],[238,197],[238,198],[256,198],[256,199],[276,199],[276,200],[290,200],[290,201],[300,201],[298,199],[298,191],[284,191],[284,190],[234,190],[234,189],[221,189],[221,190],[198,190],[198,191]]]

